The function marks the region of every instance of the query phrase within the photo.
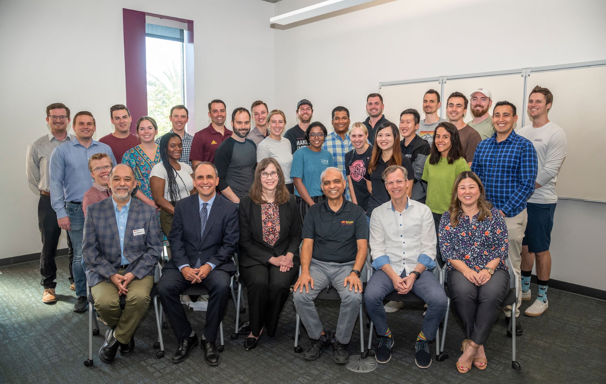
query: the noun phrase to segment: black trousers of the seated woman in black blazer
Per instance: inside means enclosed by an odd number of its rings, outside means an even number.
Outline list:
[[[254,336],[261,334],[263,326],[268,336],[276,334],[280,313],[298,274],[297,265],[286,272],[273,264],[240,265],[240,277],[248,291],[248,322]]]

